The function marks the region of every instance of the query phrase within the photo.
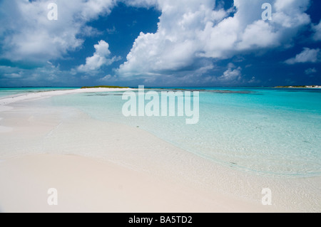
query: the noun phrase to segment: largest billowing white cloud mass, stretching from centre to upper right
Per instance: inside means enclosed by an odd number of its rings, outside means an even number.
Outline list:
[[[272,21],[262,20],[265,2],[273,6]],[[164,76],[185,68],[196,71],[211,64],[204,59],[289,46],[300,28],[310,23],[305,14],[309,0],[235,0],[235,7],[227,10],[210,0],[158,0],[153,4],[161,10],[158,31],[136,38],[126,62],[117,70],[122,77]]]

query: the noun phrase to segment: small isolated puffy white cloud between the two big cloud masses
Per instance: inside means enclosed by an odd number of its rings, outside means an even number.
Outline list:
[[[86,64],[78,66],[77,70],[80,72],[91,72],[99,70],[103,65],[111,65],[120,57],[114,56],[109,58],[111,51],[109,51],[109,45],[106,41],[99,41],[98,44],[94,46],[96,52],[93,53],[92,57],[86,58]]]

